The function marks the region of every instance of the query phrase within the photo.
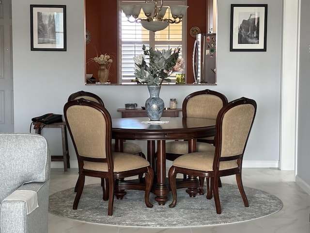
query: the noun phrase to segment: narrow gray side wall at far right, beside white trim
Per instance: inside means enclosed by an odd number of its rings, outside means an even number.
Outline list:
[[[300,9],[297,176],[310,185],[310,1],[301,0]]]

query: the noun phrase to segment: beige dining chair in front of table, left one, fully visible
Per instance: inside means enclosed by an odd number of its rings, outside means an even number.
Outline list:
[[[83,98],[71,100],[64,105],[64,118],[78,157],[77,194],[73,209],[78,208],[85,176],[101,178],[103,200],[109,200],[108,215],[112,215],[115,179],[145,174],[145,183],[137,183],[133,189],[145,190],[147,207],[154,179],[150,163],[139,155],[112,152],[111,116],[101,104]]]

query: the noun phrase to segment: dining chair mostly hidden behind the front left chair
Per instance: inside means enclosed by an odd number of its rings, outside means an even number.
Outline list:
[[[81,98],[99,103],[102,106],[104,106],[103,100],[99,96],[97,96],[94,93],[87,92],[87,91],[78,91],[78,92],[71,94],[68,98],[68,102],[71,100],[77,100]],[[114,143],[112,144],[112,151],[115,151]],[[136,143],[124,142],[123,152],[129,153],[129,154],[139,154],[141,157],[146,158],[145,154],[142,152],[142,148]]]

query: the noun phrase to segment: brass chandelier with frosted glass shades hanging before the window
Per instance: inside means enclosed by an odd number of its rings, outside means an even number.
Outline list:
[[[159,0],[158,0],[159,2]],[[145,0],[145,3],[140,5],[122,5],[121,8],[131,23],[141,23],[146,30],[156,32],[164,30],[170,23],[180,23],[183,16],[186,14],[188,6],[171,5],[170,11],[173,19],[163,18],[168,9],[163,6],[163,0],[160,0],[160,5],[157,5],[157,0]],[[141,8],[146,18],[139,18]]]

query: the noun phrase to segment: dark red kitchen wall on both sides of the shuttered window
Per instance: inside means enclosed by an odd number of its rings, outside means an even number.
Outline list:
[[[192,52],[195,38],[189,34],[192,27],[199,27],[202,33],[206,33],[206,4],[207,0],[188,0],[187,5],[187,58],[186,79],[187,83],[194,83],[192,71]],[[86,29],[92,35],[92,41],[86,45],[86,61],[99,56],[109,54],[113,58],[110,68],[109,80],[117,83],[117,1],[116,0],[86,0]],[[94,62],[86,64],[86,72],[97,78],[98,67]]]

